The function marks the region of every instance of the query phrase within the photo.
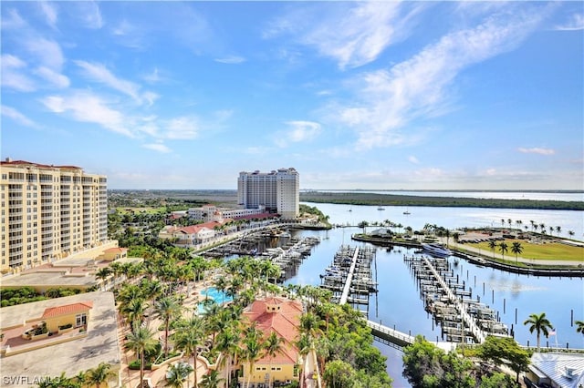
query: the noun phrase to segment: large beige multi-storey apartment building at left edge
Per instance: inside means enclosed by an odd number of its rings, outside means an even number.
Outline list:
[[[0,162],[0,271],[22,271],[108,240],[108,184],[74,166]]]

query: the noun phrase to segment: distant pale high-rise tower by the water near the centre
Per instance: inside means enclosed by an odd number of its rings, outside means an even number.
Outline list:
[[[295,219],[299,214],[300,179],[296,169],[279,168],[271,172],[239,173],[237,199],[246,209],[260,206],[275,211],[284,219]]]

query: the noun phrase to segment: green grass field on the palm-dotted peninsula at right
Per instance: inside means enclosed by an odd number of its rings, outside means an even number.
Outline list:
[[[498,244],[501,241],[497,241],[497,246],[495,247],[495,259],[501,259],[501,251],[499,250]],[[507,251],[505,254],[506,260],[514,260],[515,253],[511,251],[511,247],[514,242],[519,242],[523,251],[519,254],[519,257],[524,259],[534,259],[534,260],[570,260],[570,261],[582,261],[584,262],[584,248],[582,247],[572,247],[566,244],[561,244],[559,242],[546,242],[546,243],[530,243],[526,240],[511,240],[506,239]],[[473,244],[465,244],[469,247],[480,248],[484,250],[485,255],[488,253],[493,254],[493,250],[489,248],[488,242],[479,242]],[[488,252],[488,253],[487,253]]]

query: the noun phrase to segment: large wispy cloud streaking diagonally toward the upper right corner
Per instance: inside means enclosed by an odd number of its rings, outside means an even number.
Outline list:
[[[389,70],[365,73],[353,83],[359,103],[331,115],[355,128],[358,149],[389,147],[408,141],[401,129],[414,118],[443,115],[449,89],[469,66],[509,51],[537,26],[541,12],[492,15],[474,28],[455,31]]]

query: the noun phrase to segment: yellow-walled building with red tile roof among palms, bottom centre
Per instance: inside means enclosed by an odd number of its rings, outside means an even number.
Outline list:
[[[302,362],[295,342],[302,312],[300,301],[276,297],[254,301],[245,309],[245,319],[251,324],[255,323],[256,328],[263,332],[264,339],[276,332],[283,341],[280,352],[275,356],[265,355],[256,360],[252,371],[249,362],[243,362],[240,383],[249,381],[253,384],[274,386],[276,382],[298,380],[297,365]]]

